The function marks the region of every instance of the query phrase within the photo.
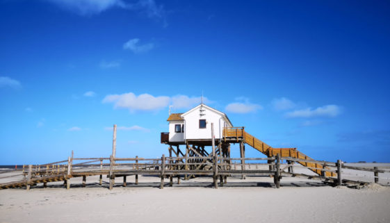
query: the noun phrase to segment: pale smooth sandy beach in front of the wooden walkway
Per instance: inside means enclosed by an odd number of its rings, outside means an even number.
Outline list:
[[[355,178],[372,178],[353,170]],[[363,172],[364,173],[364,172]],[[360,174],[360,175],[359,175]],[[369,175],[371,176],[371,174]],[[388,176],[381,176],[388,177]],[[361,189],[332,187],[320,181],[284,177],[276,189],[269,177],[229,178],[214,189],[199,177],[159,189],[159,178],[140,176],[115,180],[108,190],[98,176],[72,179],[48,188],[0,190],[0,222],[390,222],[390,188],[371,184]]]

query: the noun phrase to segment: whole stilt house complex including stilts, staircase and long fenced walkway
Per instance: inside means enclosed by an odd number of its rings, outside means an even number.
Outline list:
[[[70,188],[70,179],[99,175],[99,184],[102,185],[102,176],[109,179],[108,188],[115,185],[115,178],[123,177],[123,186],[127,185],[127,176],[135,176],[138,184],[138,174],[147,174],[161,177],[161,188],[164,179],[169,178],[172,186],[173,179],[177,183],[181,179],[190,179],[196,176],[211,176],[213,187],[218,188],[227,183],[229,176],[270,176],[273,177],[275,188],[279,188],[282,176],[316,179],[334,185],[364,185],[367,182],[341,179],[341,168],[374,172],[375,183],[378,173],[389,170],[378,170],[351,167],[337,163],[318,161],[309,158],[296,148],[273,148],[245,131],[244,127],[235,127],[225,113],[201,103],[186,113],[173,113],[168,117],[169,132],[161,133],[161,143],[168,145],[169,156],[161,158],[117,158],[116,154],[116,125],[113,133],[113,153],[109,158],[74,158],[44,165],[26,165],[20,175],[22,179],[0,183],[1,188],[38,186],[43,183],[64,181],[66,188]],[[231,158],[231,144],[240,145],[240,158]],[[245,158],[245,145],[256,149],[265,158]],[[81,163],[80,163],[81,162]],[[245,163],[247,162],[247,163]],[[299,164],[299,165],[294,165]],[[263,168],[265,166],[265,168]],[[293,171],[293,167],[306,168],[312,174],[300,174]],[[0,172],[1,174],[1,172]],[[15,174],[13,176],[18,176]],[[10,177],[10,176],[6,176]],[[1,177],[1,178],[6,178]]]

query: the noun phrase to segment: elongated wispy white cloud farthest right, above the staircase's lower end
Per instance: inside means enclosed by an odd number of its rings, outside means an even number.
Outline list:
[[[340,113],[340,106],[327,105],[316,109],[304,108],[301,110],[293,110],[292,112],[286,113],[286,117],[336,117]]]

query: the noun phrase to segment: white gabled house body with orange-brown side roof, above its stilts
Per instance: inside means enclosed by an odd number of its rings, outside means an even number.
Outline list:
[[[161,133],[161,142],[165,144],[186,144],[211,142],[211,123],[214,126],[216,140],[222,139],[223,129],[232,127],[225,113],[200,104],[186,113],[173,113],[168,117],[169,133]]]

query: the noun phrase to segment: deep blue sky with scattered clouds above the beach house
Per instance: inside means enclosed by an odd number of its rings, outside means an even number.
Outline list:
[[[390,162],[387,1],[0,0],[0,33],[2,165],[107,157],[113,124],[160,157],[202,92],[273,147]]]

